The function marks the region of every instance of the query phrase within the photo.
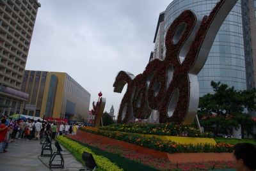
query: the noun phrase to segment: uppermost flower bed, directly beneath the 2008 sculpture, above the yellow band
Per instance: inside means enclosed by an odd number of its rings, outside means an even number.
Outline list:
[[[152,135],[169,135],[182,137],[208,137],[212,138],[212,133],[200,133],[193,126],[179,126],[173,123],[150,124],[150,123],[128,123],[128,124],[111,124],[109,126],[99,127],[100,130],[122,131],[129,133],[143,133]]]

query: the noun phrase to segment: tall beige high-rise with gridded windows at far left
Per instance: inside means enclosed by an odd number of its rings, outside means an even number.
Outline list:
[[[39,7],[37,0],[0,0],[0,114],[20,113],[28,100],[20,88]]]

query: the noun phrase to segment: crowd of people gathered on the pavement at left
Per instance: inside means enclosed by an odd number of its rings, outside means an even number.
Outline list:
[[[58,135],[76,135],[79,126],[83,124],[58,123],[56,121],[34,121],[33,119],[13,120],[6,116],[1,116],[0,124],[0,153],[7,152],[10,142],[25,138],[26,140],[39,140],[44,135],[51,135],[52,140]]]

